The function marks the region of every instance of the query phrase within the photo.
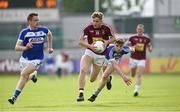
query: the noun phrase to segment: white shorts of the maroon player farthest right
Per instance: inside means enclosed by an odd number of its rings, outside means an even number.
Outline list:
[[[137,66],[145,67],[146,60],[136,60],[130,58],[129,64],[131,68],[135,68]]]

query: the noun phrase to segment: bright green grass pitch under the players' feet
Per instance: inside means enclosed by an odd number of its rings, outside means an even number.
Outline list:
[[[180,74],[144,75],[138,97],[133,97],[133,78],[128,87],[114,76],[112,90],[104,88],[95,102],[87,99],[98,81],[90,83],[87,77],[85,101],[80,103],[76,102],[78,75],[54,79],[40,75],[38,82],[29,81],[16,103],[10,105],[7,99],[18,79],[19,75],[0,75],[0,112],[180,112]]]

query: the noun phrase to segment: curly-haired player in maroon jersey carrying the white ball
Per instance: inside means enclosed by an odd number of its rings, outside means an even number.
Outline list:
[[[91,15],[92,23],[86,26],[83,34],[80,36],[79,44],[86,48],[84,55],[81,57],[79,73],[79,97],[77,101],[84,101],[85,76],[88,67],[92,64],[90,81],[94,82],[99,74],[105,61],[105,52],[97,53],[93,44],[96,41],[103,41],[105,48],[108,44],[115,41],[112,30],[103,23],[103,13],[93,12]],[[87,41],[87,42],[86,42]]]

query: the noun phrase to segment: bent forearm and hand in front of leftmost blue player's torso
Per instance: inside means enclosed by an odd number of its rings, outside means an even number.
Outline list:
[[[23,46],[22,42],[17,40],[15,50],[16,51],[25,51],[25,50],[32,48],[32,46],[33,46],[32,42],[29,42],[29,43],[27,43],[26,46]]]

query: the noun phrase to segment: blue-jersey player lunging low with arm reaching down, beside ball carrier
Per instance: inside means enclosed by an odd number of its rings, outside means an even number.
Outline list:
[[[111,73],[114,71],[117,72],[118,75],[121,76],[121,78],[124,80],[124,82],[129,86],[131,84],[131,80],[122,73],[120,70],[118,63],[121,60],[121,57],[124,54],[127,54],[131,51],[133,51],[132,48],[129,46],[123,46],[124,41],[122,39],[116,40],[114,45],[110,45],[107,48],[106,52],[106,68],[102,74],[102,78],[100,80],[99,86],[96,89],[96,91],[93,93],[93,95],[88,99],[89,101],[93,102],[95,101],[96,97],[100,93],[100,91],[104,88],[108,81],[108,77]]]

